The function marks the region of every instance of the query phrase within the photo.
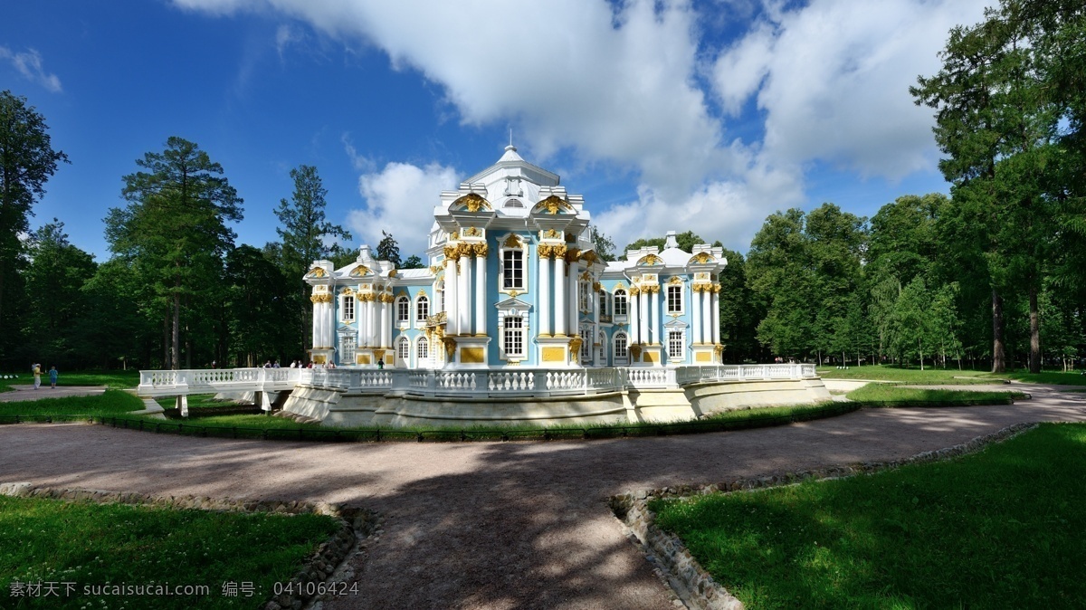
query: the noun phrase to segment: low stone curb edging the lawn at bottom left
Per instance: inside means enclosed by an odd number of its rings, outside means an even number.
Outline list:
[[[379,517],[365,509],[350,508],[330,503],[307,503],[298,500],[241,500],[230,498],[212,498],[209,496],[154,496],[151,494],[135,494],[124,492],[105,492],[101,490],[81,490],[75,487],[39,487],[28,482],[0,483],[0,496],[31,497],[55,499],[63,501],[93,501],[99,504],[126,504],[134,506],[152,506],[168,509],[218,510],[230,512],[269,512],[279,514],[326,514],[339,521],[339,529],[332,536],[320,543],[317,549],[305,559],[303,567],[283,588],[296,594],[273,595],[263,607],[265,610],[300,610],[307,602],[315,601],[316,594],[307,595],[307,589],[314,592],[321,587],[310,585],[334,580],[332,577],[355,544],[379,534]]]

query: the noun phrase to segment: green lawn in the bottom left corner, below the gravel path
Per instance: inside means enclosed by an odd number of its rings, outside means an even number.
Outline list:
[[[336,532],[315,514],[204,510],[0,497],[0,599],[4,608],[232,609],[263,607],[274,584]],[[70,596],[12,597],[12,581],[75,583]],[[223,584],[252,583],[252,597]],[[207,595],[114,597],[85,586],[203,585]]]

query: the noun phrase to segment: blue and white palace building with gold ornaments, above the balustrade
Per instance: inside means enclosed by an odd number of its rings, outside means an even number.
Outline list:
[[[425,269],[362,246],[316,260],[316,364],[397,369],[677,367],[720,363],[720,247],[653,246],[605,262],[581,195],[513,145],[441,193]]]

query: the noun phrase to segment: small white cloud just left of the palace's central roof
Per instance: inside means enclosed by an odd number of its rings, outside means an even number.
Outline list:
[[[376,247],[384,231],[396,239],[404,258],[422,256],[441,191],[455,189],[458,183],[458,174],[452,167],[389,163],[384,169],[358,178],[358,192],[366,207],[352,209],[348,226],[358,243]]]

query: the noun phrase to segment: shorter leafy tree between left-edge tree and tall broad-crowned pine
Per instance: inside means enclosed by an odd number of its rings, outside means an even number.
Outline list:
[[[68,242],[56,218],[31,232],[29,242],[22,321],[30,355],[64,367],[83,364],[77,320],[86,307],[80,289],[97,267],[93,257]]]

